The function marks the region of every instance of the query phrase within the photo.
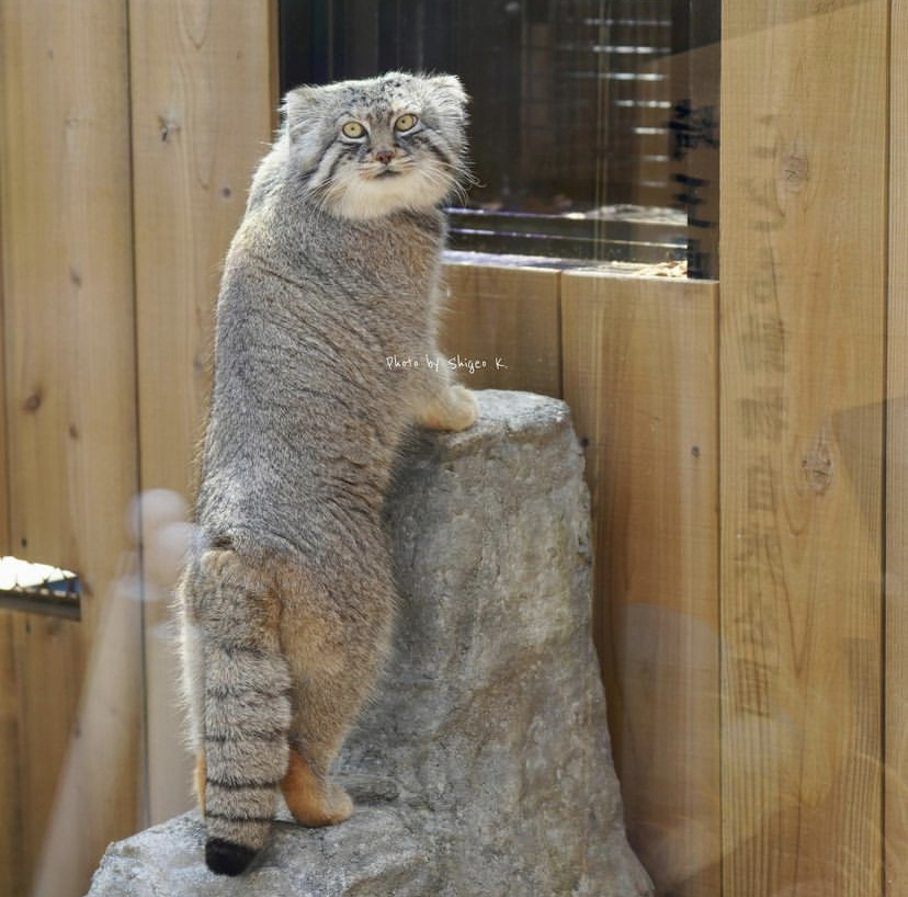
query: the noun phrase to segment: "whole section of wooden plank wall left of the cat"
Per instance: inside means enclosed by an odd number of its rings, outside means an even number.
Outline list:
[[[0,549],[84,589],[79,622],[0,611],[4,896],[84,894],[112,839],[189,803],[167,706],[167,524],[189,488],[219,262],[271,137],[272,14],[0,0]],[[175,492],[137,514],[154,489]]]

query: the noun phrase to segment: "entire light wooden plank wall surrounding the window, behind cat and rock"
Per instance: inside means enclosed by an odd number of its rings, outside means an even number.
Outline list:
[[[723,14],[720,284],[458,260],[441,348],[571,406],[657,893],[908,894],[908,13]],[[273,37],[272,0],[0,0],[0,548],[86,586],[0,611],[3,895],[191,804],[167,599]]]

